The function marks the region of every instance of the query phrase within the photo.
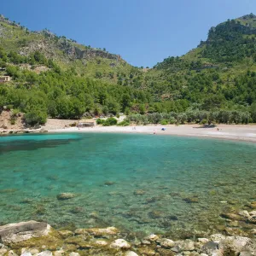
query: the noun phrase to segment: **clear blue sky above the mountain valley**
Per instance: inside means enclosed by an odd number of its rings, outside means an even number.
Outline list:
[[[8,0],[0,13],[29,30],[49,29],[106,48],[137,67],[184,55],[212,26],[250,13],[255,0]]]

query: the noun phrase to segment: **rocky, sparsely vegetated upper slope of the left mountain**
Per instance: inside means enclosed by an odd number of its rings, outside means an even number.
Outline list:
[[[78,74],[112,83],[118,82],[120,73],[136,73],[120,55],[58,37],[47,29],[31,32],[3,15],[0,16],[0,44],[7,52],[15,51],[27,57],[39,51],[63,69],[72,68]]]

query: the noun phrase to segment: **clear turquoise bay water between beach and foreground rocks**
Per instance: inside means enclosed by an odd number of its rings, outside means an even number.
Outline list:
[[[0,224],[212,232],[255,200],[256,144],[137,134],[0,137]],[[58,201],[56,195],[75,193]],[[191,202],[192,200],[192,202]]]

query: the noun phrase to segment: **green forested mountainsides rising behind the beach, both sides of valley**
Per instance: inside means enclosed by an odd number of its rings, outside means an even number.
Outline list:
[[[256,16],[210,28],[206,42],[153,68],[0,16],[0,110],[80,118],[125,112],[131,121],[256,122]],[[140,113],[141,115],[137,115]],[[144,115],[146,114],[146,115]]]

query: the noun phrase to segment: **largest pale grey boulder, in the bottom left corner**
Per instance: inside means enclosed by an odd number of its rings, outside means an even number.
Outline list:
[[[0,227],[0,237],[3,243],[26,241],[32,237],[48,235],[50,226],[44,222],[30,220]]]

